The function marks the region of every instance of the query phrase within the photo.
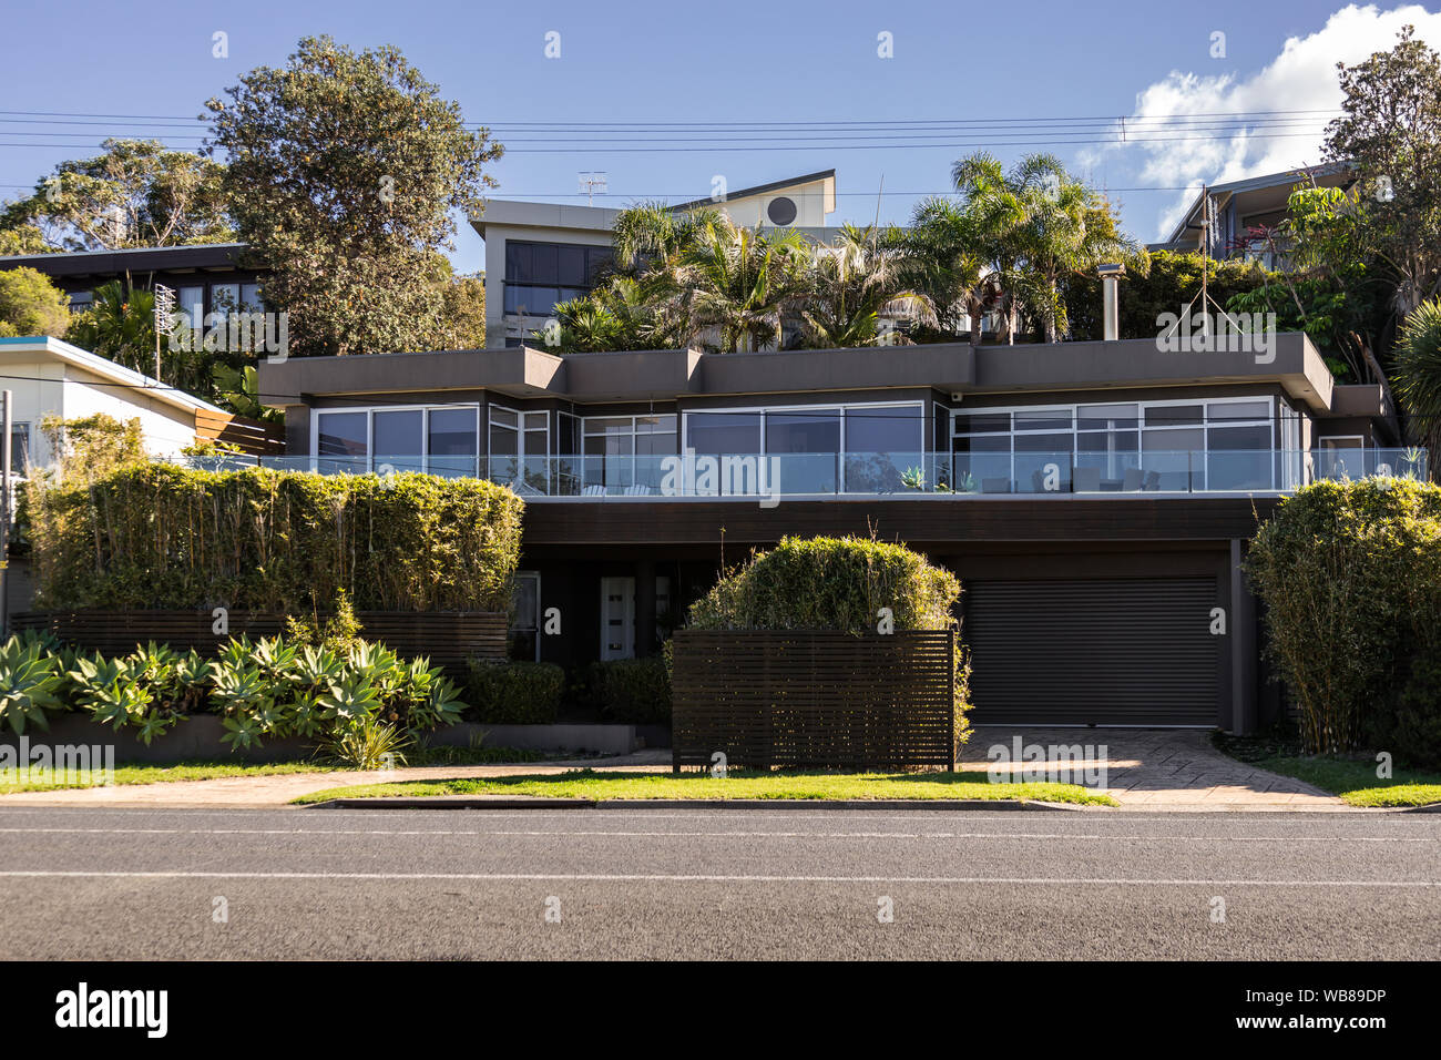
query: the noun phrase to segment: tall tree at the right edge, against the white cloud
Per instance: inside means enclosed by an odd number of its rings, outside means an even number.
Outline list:
[[[1360,187],[1336,218],[1385,262],[1404,317],[1441,293],[1441,55],[1405,26],[1389,52],[1337,69],[1344,114],[1327,127],[1326,157],[1355,166]]]

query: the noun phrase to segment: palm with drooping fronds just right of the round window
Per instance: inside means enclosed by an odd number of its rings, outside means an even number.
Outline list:
[[[901,242],[893,229],[880,235],[875,226],[846,225],[834,247],[817,249],[800,309],[810,348],[869,346],[883,317],[935,324],[931,299],[902,281]]]

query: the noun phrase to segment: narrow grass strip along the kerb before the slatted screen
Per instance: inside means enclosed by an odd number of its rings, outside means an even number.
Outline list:
[[[582,769],[553,776],[401,780],[331,787],[295,799],[432,795],[529,795],[555,799],[1036,799],[1115,806],[1108,795],[1078,785],[987,783],[984,769],[965,773],[597,773]]]

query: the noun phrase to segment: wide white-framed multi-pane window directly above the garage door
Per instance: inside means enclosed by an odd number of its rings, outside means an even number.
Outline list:
[[[957,487],[981,493],[1270,490],[1271,398],[957,410]]]

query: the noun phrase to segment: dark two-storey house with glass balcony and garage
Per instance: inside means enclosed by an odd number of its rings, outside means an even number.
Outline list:
[[[1280,710],[1241,568],[1258,519],[1320,476],[1425,474],[1391,449],[1380,389],[1337,385],[1304,335],[259,372],[293,466],[480,474],[526,499],[526,655],[653,653],[752,548],[875,534],[960,575],[977,723],[1254,731]]]

